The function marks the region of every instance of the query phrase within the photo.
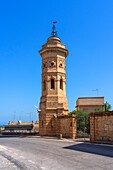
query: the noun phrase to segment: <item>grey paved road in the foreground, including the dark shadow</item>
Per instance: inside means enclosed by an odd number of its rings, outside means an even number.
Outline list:
[[[113,170],[113,146],[45,138],[0,138],[2,170]]]

